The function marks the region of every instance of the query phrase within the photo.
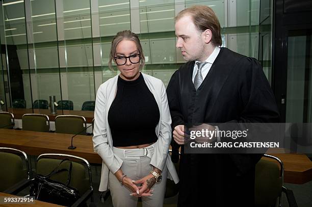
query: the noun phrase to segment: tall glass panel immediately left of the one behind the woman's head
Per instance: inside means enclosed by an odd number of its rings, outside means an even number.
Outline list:
[[[64,0],[62,3],[64,45],[60,46],[60,50],[64,55],[65,70],[61,78],[67,83],[62,86],[63,100],[73,105],[71,110],[94,111],[90,1]]]

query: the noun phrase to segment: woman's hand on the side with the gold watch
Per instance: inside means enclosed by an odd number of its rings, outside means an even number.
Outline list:
[[[156,178],[154,177],[154,175],[148,174],[145,177],[143,177],[142,179],[134,180],[133,183],[134,184],[141,184],[141,186],[139,186],[139,189],[140,189],[139,194],[131,193],[131,195],[137,196],[137,197],[151,196],[151,195],[153,195],[153,194],[151,194],[151,192],[152,192],[151,188],[155,185]]]

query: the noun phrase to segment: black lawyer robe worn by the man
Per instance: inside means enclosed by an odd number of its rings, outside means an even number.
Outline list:
[[[196,91],[195,61],[171,77],[172,128],[185,123],[278,122],[275,98],[258,61],[222,47]],[[172,159],[180,146],[172,139]],[[185,154],[181,146],[178,206],[253,206],[254,168],[262,154]]]

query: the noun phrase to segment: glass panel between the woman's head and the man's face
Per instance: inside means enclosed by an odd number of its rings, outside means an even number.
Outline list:
[[[175,3],[139,1],[140,38],[146,59],[143,72],[162,80],[167,87],[171,75],[184,63],[175,48]]]

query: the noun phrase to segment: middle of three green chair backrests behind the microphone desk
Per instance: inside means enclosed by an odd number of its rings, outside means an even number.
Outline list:
[[[49,132],[49,117],[44,114],[24,114],[22,116],[22,130]]]

